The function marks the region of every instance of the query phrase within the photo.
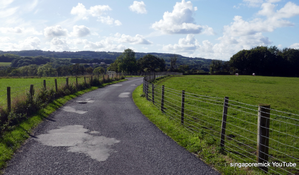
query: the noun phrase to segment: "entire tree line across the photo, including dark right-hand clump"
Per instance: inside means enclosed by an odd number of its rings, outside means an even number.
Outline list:
[[[158,54],[158,53],[153,53]],[[299,76],[299,49],[276,46],[257,46],[241,50],[229,61],[211,60],[204,64],[190,64],[193,60],[183,60],[180,55],[163,54],[165,59],[147,54],[139,59],[132,49],[125,49],[115,60],[99,58],[53,58],[21,57],[5,53],[0,55],[0,62],[11,61],[10,66],[0,66],[0,76],[77,76],[115,72],[153,72],[173,71],[181,73],[210,72],[210,74],[261,76]],[[179,58],[179,59],[178,59]],[[93,64],[91,63],[105,63]],[[110,64],[110,65],[109,65]],[[208,67],[207,67],[208,64]],[[98,68],[100,67],[100,68]]]

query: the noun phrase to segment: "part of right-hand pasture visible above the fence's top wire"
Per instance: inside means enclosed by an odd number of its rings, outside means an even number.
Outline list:
[[[263,76],[176,76],[159,82],[167,88],[299,114],[299,78]]]

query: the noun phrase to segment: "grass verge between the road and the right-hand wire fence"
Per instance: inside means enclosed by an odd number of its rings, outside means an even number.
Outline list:
[[[225,175],[255,175],[263,174],[261,171],[249,170],[248,168],[231,167],[234,162],[230,155],[223,154],[217,146],[218,142],[205,132],[193,134],[185,129],[178,122],[170,119],[161,113],[152,102],[147,101],[142,92],[142,85],[138,86],[132,93],[133,100],[141,112],[154,123],[162,132],[186,148],[191,153],[197,155],[205,163]]]

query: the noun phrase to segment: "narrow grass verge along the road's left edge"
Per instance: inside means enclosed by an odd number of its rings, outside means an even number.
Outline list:
[[[63,104],[86,92],[123,81],[125,80],[123,79],[115,82],[105,83],[100,86],[93,86],[71,95],[58,98],[47,105],[45,108],[39,110],[32,117],[26,119],[19,125],[14,126],[12,130],[4,132],[2,138],[0,139],[0,169],[3,170],[3,168],[6,167],[6,163],[13,157],[13,153],[22,146],[26,139],[30,137],[30,132],[32,131],[32,129],[35,128],[40,122],[42,122],[44,118],[60,108]]]

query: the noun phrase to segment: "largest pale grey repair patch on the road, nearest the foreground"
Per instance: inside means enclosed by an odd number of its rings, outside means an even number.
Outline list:
[[[111,153],[117,153],[110,146],[119,143],[119,140],[93,136],[86,132],[89,130],[83,128],[82,125],[69,125],[60,127],[60,129],[52,129],[49,134],[39,135],[36,140],[52,147],[68,147],[69,152],[84,153],[97,161],[105,161]],[[90,133],[99,132],[91,131]]]

